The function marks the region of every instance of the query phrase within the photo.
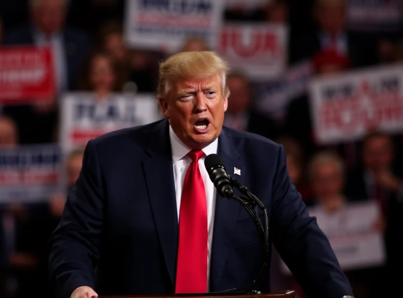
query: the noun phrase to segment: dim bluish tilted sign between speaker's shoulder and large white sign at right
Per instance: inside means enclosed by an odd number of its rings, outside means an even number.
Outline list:
[[[312,63],[304,61],[290,66],[276,79],[254,84],[257,109],[283,122],[291,100],[306,94],[312,76]]]

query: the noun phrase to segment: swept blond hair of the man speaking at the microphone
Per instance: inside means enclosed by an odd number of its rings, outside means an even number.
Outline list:
[[[180,52],[160,63],[157,97],[164,98],[172,83],[181,79],[206,79],[221,76],[222,91],[229,96],[228,62],[214,51]]]

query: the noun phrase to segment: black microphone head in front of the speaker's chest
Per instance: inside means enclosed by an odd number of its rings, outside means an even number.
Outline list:
[[[222,197],[231,198],[232,182],[224,167],[224,162],[217,154],[210,154],[205,159],[205,167],[211,181]]]

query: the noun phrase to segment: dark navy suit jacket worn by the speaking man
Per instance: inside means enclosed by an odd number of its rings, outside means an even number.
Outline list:
[[[49,242],[57,297],[82,285],[105,294],[174,293],[178,216],[168,121],[115,131],[88,142],[83,169]],[[352,290],[328,240],[308,215],[287,173],[283,148],[223,127],[218,154],[265,204],[271,239],[310,297]],[[231,173],[232,174],[232,173]],[[217,195],[210,291],[250,286],[260,262],[252,219]],[[269,276],[263,290],[268,291]]]

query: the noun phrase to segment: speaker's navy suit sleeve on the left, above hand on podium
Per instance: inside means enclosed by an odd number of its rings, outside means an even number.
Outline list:
[[[79,286],[94,288],[103,208],[100,169],[94,143],[89,141],[80,176],[49,241],[49,274],[57,298],[69,298]]]

